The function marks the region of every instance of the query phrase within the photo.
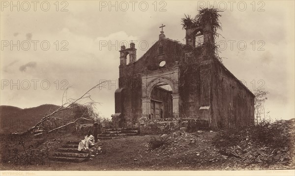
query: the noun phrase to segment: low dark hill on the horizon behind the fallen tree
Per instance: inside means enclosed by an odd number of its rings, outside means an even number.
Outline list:
[[[58,108],[59,106],[52,104],[25,109],[0,106],[0,134],[24,131],[35,125],[46,113],[53,112]]]

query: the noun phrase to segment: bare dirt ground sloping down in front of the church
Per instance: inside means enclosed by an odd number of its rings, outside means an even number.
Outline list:
[[[169,144],[152,150],[148,142],[161,135],[133,136],[122,139],[100,141],[102,153],[83,163],[45,163],[45,165],[19,166],[1,163],[1,170],[50,170],[50,171],[151,171],[151,170],[271,170],[294,169],[281,164],[262,166],[258,164],[236,164],[235,157],[225,157],[212,145],[215,132],[175,132],[167,135]],[[66,141],[81,137],[67,135]]]

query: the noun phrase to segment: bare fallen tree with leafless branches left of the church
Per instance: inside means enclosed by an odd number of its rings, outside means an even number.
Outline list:
[[[101,82],[101,83],[95,85],[94,87],[90,88],[87,92],[85,92],[81,97],[79,97],[77,99],[73,99],[73,98],[67,99],[66,94],[67,94],[68,88],[66,88],[65,91],[63,92],[63,95],[62,95],[61,106],[57,110],[49,113],[48,115],[45,114],[44,117],[39,122],[37,122],[34,126],[32,126],[31,128],[29,128],[27,131],[24,131],[24,132],[14,132],[14,133],[12,133],[12,135],[26,135],[26,134],[29,134],[30,132],[34,131],[35,129],[39,129],[40,127],[42,127],[42,125],[45,122],[48,122],[48,121],[50,122],[51,120],[56,120],[56,119],[64,120],[63,118],[60,118],[60,117],[57,117],[57,116],[59,115],[59,113],[64,112],[66,110],[78,108],[80,106],[87,106],[87,105],[92,106],[93,104],[97,104],[98,102],[95,102],[95,101],[93,101],[91,99],[91,96],[90,96],[89,92],[91,90],[95,89],[95,88],[99,88],[99,86],[102,85],[102,84],[104,84],[105,82],[107,82],[107,81]],[[64,101],[64,98],[65,98],[65,101]],[[83,104],[79,104],[79,102],[82,101],[82,100],[84,100],[84,99],[87,99],[88,102],[83,103]],[[54,129],[47,129],[46,132],[47,133],[51,133],[51,132],[56,131],[58,129],[64,128],[64,127],[69,126],[71,124],[74,124],[77,121],[82,120],[82,119],[84,119],[84,120],[92,120],[92,119],[89,119],[89,118],[84,117],[85,114],[86,114],[86,112],[88,110],[89,109],[86,108],[85,111],[83,112],[82,116],[81,117],[78,117],[74,121],[71,121],[71,122],[68,122],[66,124],[60,125],[58,127],[55,127]],[[41,132],[39,134],[42,134],[42,133],[43,132]]]

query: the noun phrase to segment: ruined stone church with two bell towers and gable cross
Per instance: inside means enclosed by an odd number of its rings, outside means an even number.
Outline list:
[[[253,123],[255,96],[215,56],[210,24],[186,28],[185,44],[167,38],[163,27],[139,59],[134,43],[121,46],[116,127],[148,133],[154,126],[195,131]]]

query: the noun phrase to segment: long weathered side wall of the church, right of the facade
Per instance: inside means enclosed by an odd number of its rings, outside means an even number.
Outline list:
[[[254,122],[254,96],[221,63],[214,60],[212,126],[231,128]]]

